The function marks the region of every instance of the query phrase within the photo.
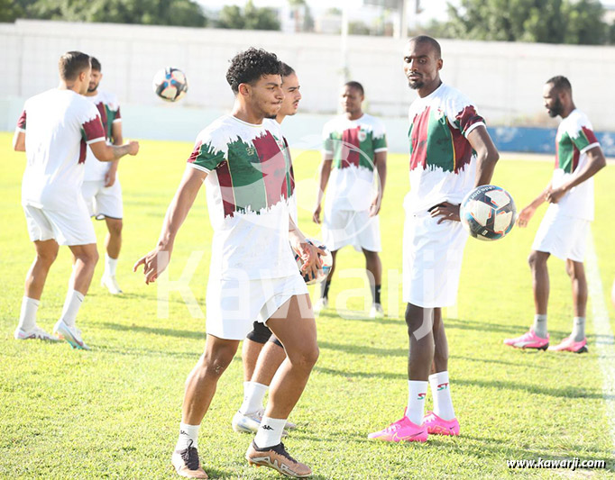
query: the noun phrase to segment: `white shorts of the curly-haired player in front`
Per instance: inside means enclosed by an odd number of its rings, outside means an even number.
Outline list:
[[[209,277],[207,334],[219,339],[243,340],[252,331],[254,321],[266,324],[290,297],[308,294],[308,285],[298,270],[297,275],[260,280],[250,280],[242,274],[222,279]]]

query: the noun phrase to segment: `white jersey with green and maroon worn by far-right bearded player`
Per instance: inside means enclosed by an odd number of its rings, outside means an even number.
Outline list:
[[[587,163],[587,150],[600,147],[585,113],[574,109],[557,128],[555,136],[555,170],[551,186],[562,186]],[[593,177],[572,188],[555,205],[561,213],[593,220]]]

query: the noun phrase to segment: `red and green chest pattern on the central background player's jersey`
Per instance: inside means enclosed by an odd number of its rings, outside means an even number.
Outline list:
[[[326,151],[333,151],[333,168],[363,167],[373,170],[375,150],[386,149],[384,134],[375,136],[361,125],[344,131],[332,131],[325,140]]]

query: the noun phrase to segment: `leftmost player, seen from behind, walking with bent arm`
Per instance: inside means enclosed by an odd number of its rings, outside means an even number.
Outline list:
[[[17,340],[58,340],[36,324],[51,264],[60,245],[73,254],[60,320],[53,331],[73,348],[88,349],[75,320],[98,260],[94,227],[81,195],[87,145],[98,160],[112,162],[126,154],[136,155],[139,143],[109,146],[96,107],[83,96],[90,78],[90,58],[80,51],[60,57],[60,86],[29,98],[17,123],[14,149],[25,151],[22,205],[36,257],[25,278],[25,294]]]

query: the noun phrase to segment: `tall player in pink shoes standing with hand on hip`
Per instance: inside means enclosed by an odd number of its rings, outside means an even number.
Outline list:
[[[425,35],[411,39],[403,61],[408,85],[418,93],[409,109],[410,192],[404,202],[408,403],[399,421],[369,438],[425,441],[428,433],[459,434],[442,307],[456,303],[468,237],[459,222],[459,204],[474,186],[490,183],[499,154],[473,103],[442,83],[436,40]],[[434,411],[424,415],[427,382]]]

